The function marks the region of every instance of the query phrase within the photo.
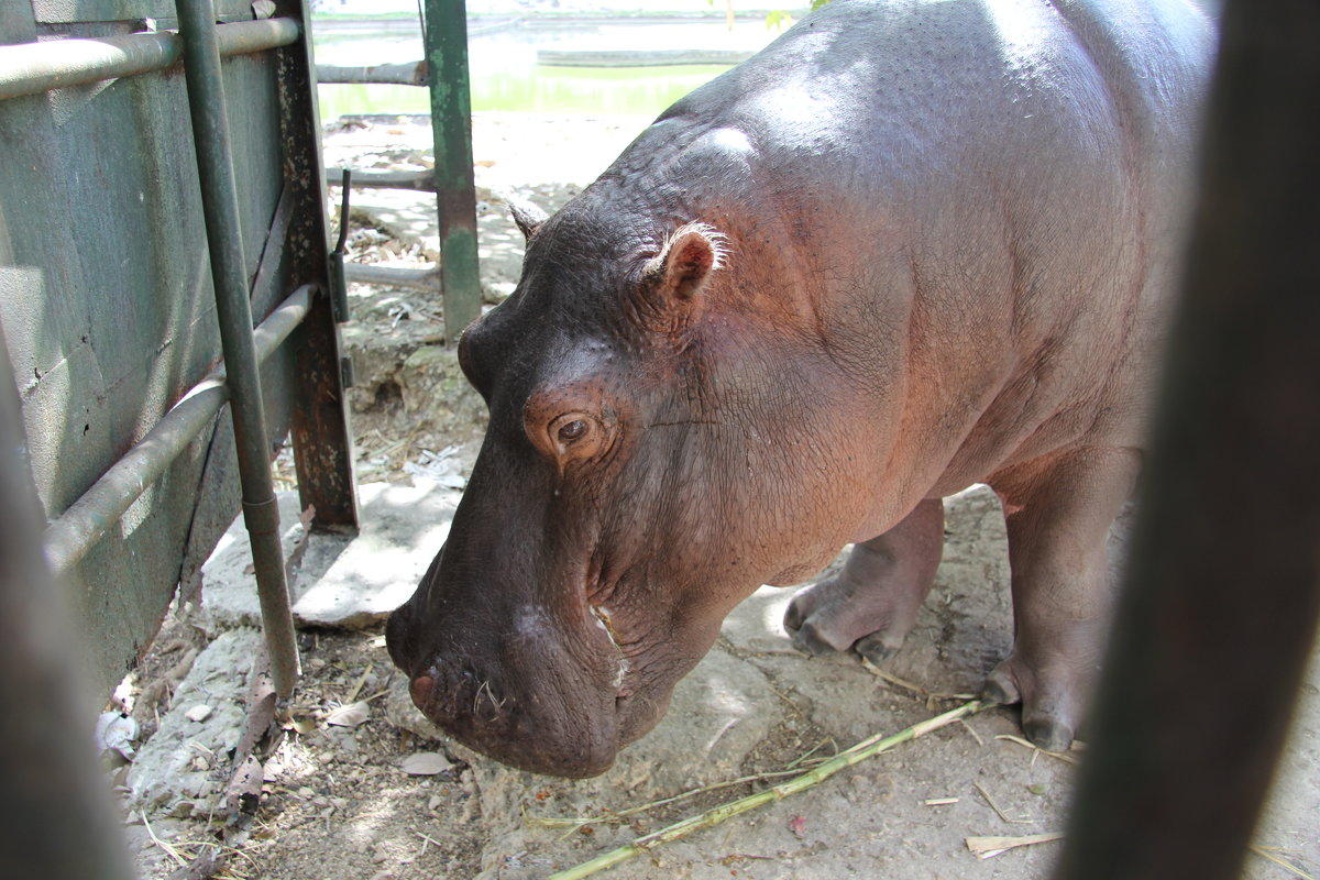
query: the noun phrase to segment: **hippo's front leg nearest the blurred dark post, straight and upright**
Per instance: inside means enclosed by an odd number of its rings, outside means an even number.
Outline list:
[[[1067,749],[1100,666],[1113,590],[1106,537],[1131,493],[1140,454],[1084,449],[991,476],[1003,503],[1012,574],[1014,645],[985,695],[1022,703],[1022,728]]]

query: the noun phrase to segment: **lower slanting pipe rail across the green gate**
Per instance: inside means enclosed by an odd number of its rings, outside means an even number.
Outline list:
[[[257,363],[264,363],[302,323],[312,303],[310,285],[294,290],[253,331]],[[69,571],[106,537],[147,487],[160,479],[230,398],[224,364],[194,385],[156,426],[106,471],[82,497],[46,526],[46,562],[55,574]]]

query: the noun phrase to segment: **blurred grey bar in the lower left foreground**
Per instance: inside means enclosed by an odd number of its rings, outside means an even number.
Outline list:
[[[0,334],[0,350],[8,350]],[[5,876],[129,880],[119,822],[91,748],[78,637],[37,544],[40,505],[22,460],[22,414],[0,356],[0,852]]]

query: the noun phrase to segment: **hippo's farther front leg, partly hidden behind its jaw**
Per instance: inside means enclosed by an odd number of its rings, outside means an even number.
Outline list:
[[[784,627],[809,654],[853,648],[874,664],[899,649],[935,583],[944,551],[944,501],[921,501],[884,534],[862,541],[833,578],[793,596]]]

